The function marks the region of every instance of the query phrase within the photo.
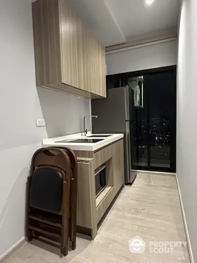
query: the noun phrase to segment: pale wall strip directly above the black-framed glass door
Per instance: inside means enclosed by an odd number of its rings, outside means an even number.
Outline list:
[[[134,48],[106,55],[107,75],[177,64],[177,41]]]

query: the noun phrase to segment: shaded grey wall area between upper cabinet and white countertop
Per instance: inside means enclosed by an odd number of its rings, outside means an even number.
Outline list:
[[[83,117],[90,115],[90,100],[37,87],[48,138],[83,131]],[[90,130],[90,120],[86,119]]]

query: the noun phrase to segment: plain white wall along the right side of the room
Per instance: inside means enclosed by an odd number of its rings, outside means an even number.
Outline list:
[[[183,0],[177,67],[177,176],[197,262],[197,0]]]

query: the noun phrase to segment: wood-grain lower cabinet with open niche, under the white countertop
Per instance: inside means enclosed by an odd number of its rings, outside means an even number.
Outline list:
[[[77,230],[94,239],[100,219],[124,186],[123,140],[88,154],[78,157]]]

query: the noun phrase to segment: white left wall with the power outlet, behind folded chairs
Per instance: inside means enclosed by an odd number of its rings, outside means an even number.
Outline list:
[[[0,0],[0,258],[24,237],[33,152],[43,138],[82,131],[89,113],[87,99],[36,88],[31,0]]]

